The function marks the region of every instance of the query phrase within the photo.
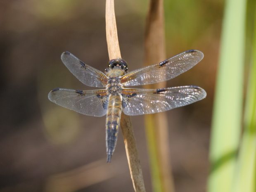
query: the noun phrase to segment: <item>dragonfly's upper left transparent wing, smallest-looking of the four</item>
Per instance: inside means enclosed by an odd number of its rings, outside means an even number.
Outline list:
[[[79,81],[91,87],[105,87],[107,76],[101,71],[83,63],[70,52],[63,52],[62,62]]]

